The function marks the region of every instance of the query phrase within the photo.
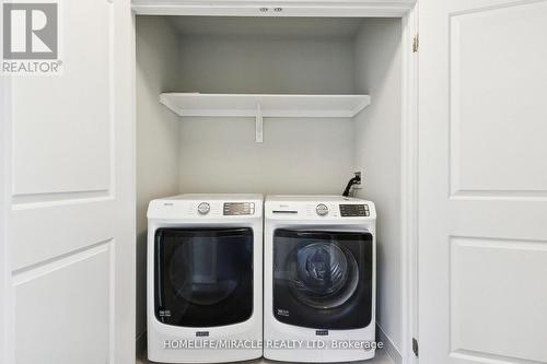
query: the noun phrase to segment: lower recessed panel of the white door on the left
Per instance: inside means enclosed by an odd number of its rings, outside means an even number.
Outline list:
[[[106,242],[13,275],[18,363],[42,363],[44,357],[48,363],[108,363],[114,244]],[[75,325],[80,329],[74,330]]]

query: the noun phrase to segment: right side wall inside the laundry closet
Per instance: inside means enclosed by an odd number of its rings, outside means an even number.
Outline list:
[[[401,342],[401,58],[400,20],[368,20],[356,38],[356,92],[371,105],[356,118],[356,165],[364,167],[359,197],[377,209],[377,321],[395,349]]]

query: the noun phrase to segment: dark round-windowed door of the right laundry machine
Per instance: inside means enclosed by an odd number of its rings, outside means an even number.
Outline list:
[[[274,316],[314,329],[358,329],[372,316],[369,232],[274,233]]]

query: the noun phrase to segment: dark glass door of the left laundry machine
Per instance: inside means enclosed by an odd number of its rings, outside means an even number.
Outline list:
[[[154,248],[158,320],[218,327],[251,317],[252,228],[159,228]]]

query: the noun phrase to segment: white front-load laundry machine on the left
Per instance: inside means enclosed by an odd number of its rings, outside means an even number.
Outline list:
[[[150,361],[263,355],[263,196],[151,201],[147,274]]]

